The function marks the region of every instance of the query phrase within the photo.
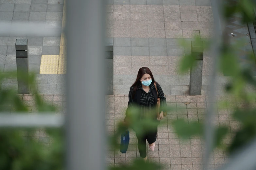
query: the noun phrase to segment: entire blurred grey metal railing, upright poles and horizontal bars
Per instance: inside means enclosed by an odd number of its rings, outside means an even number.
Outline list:
[[[215,73],[219,56],[219,37],[221,27],[219,20],[219,2],[211,0],[215,41],[213,43],[213,76],[211,77],[211,100],[214,100]],[[104,8],[102,0],[67,1],[67,103],[68,111],[63,115],[49,114],[0,114],[0,127],[60,127],[65,125],[67,152],[66,166],[68,170],[105,169],[104,154]],[[3,23],[0,24],[3,25]],[[0,35],[23,36],[25,33],[37,36],[52,36],[57,28],[37,29],[40,24],[21,25],[21,30],[8,29],[14,27],[5,23]],[[46,28],[47,25],[44,25]],[[16,29],[15,28],[15,29]],[[32,32],[28,32],[30,30]],[[54,31],[55,30],[55,31]],[[209,102],[212,104],[213,102]],[[213,105],[209,106],[205,123],[206,159],[205,168],[213,145]],[[15,119],[14,119],[15,118]],[[248,148],[230,159],[230,164],[223,170],[254,170],[256,167],[256,141]],[[207,169],[207,168],[206,168]]]

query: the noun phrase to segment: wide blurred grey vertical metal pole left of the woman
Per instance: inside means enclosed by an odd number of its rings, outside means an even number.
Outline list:
[[[104,4],[67,0],[66,163],[68,170],[105,168]]]

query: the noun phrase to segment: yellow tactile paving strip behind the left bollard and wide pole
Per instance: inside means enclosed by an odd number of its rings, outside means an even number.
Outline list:
[[[64,0],[62,28],[66,25],[66,0]],[[40,74],[66,74],[67,59],[66,59],[66,36],[64,32],[60,37],[60,54],[59,55],[42,55]]]

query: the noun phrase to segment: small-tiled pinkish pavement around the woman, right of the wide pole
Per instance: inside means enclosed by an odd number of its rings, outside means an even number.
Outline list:
[[[147,147],[147,156],[149,162],[160,163],[167,170],[200,170],[202,166],[202,155],[204,151],[204,141],[200,136],[194,136],[188,140],[181,140],[174,133],[172,120],[183,118],[191,121],[203,121],[205,111],[209,106],[207,96],[167,96],[167,105],[176,108],[175,111],[168,112],[167,117],[162,120],[158,126],[155,151],[150,151]],[[109,95],[106,97],[106,124],[108,134],[114,134],[117,123],[124,119],[125,108],[128,103],[127,95]],[[227,105],[223,102],[227,101]],[[190,104],[185,105],[186,102]],[[222,143],[228,145],[235,130],[240,128],[238,121],[231,117],[233,106],[243,107],[233,98],[219,96],[218,102],[222,106],[218,107],[218,112],[214,114],[214,125],[229,126],[230,132],[224,138]],[[119,141],[119,139],[118,139]],[[140,159],[137,148],[137,138],[135,133],[130,129],[130,144],[128,151],[121,154],[119,150],[109,150],[106,160],[110,166],[120,166],[121,164],[130,164],[134,159]],[[217,169],[224,163],[227,163],[227,154],[223,149],[215,149],[209,167]]]

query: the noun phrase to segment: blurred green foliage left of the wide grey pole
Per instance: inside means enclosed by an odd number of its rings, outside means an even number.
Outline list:
[[[36,91],[35,76],[23,76],[29,82],[35,105],[39,112],[55,111],[56,108],[44,103]],[[0,83],[17,79],[16,73],[0,73]],[[0,111],[28,112],[22,98],[12,88],[0,90]],[[1,114],[1,113],[0,113]],[[1,128],[0,129],[0,169],[8,170],[62,170],[64,166],[64,143],[62,129],[45,129],[53,138],[49,149],[35,140],[35,128]]]

